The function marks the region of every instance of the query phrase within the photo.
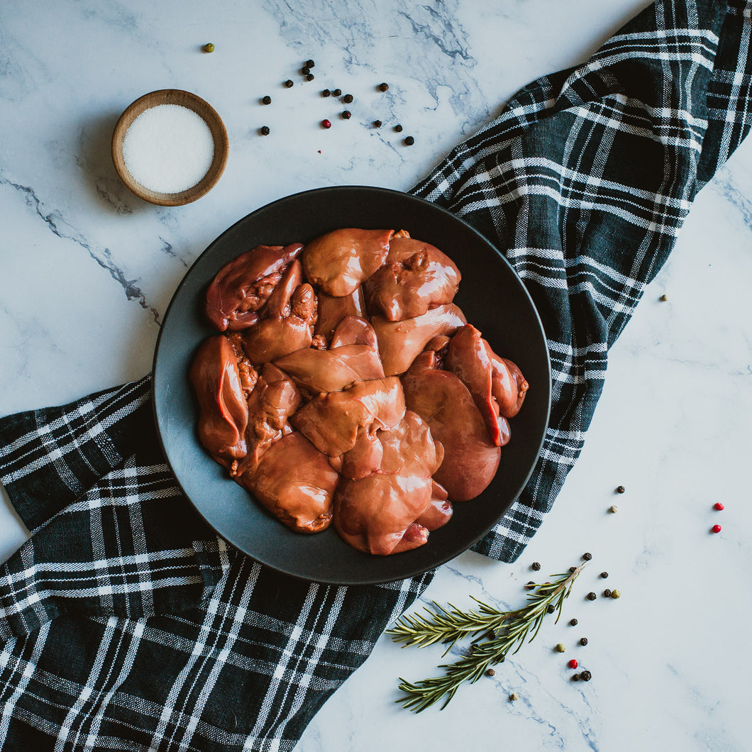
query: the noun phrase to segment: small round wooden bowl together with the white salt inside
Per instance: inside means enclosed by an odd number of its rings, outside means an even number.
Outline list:
[[[120,116],[112,158],[123,183],[153,204],[196,201],[220,179],[228,140],[217,111],[199,96],[162,89],[137,99]]]

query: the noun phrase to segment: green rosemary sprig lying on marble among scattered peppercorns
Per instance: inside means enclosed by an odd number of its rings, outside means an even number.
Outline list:
[[[444,675],[417,682],[405,681],[400,677],[399,689],[405,696],[396,702],[401,702],[408,710],[420,713],[444,699],[441,709],[446,708],[465,681],[474,684],[490,666],[502,663],[510,650],[514,648],[512,654],[517,653],[531,631],[529,641],[535,639],[550,605],[556,611],[556,621],[559,620],[564,600],[572,592],[572,584],[583,567],[584,564],[581,564],[574,572],[553,575],[551,582],[536,584],[535,590],[527,596],[527,605],[517,611],[499,611],[474,598],[478,603],[477,611],[460,611],[451,604],[449,608],[445,608],[434,602],[435,610],[425,609],[429,614],[427,617],[423,614],[400,617],[396,625],[387,630],[387,634],[395,642],[405,643],[403,647],[426,647],[441,642],[448,644],[447,650],[444,650],[446,655],[462,638],[479,635],[481,632],[483,635],[476,638],[468,655],[456,663],[444,663],[438,667],[446,669]],[[492,632],[493,636],[484,640],[488,632]]]

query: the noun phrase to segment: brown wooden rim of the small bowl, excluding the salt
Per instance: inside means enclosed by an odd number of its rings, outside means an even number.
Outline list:
[[[199,180],[196,185],[190,186],[180,193],[157,193],[156,191],[144,188],[141,183],[136,182],[126,168],[126,162],[123,159],[123,138],[131,123],[144,111],[157,105],[181,105],[203,118],[211,131],[211,138],[214,139],[214,159],[208,172]],[[135,193],[140,199],[148,201],[151,204],[159,206],[183,206],[190,204],[196,199],[200,199],[208,193],[217,184],[227,164],[227,153],[229,151],[229,142],[227,140],[227,131],[222,118],[217,111],[200,96],[191,92],[184,92],[180,89],[160,89],[156,92],[144,94],[136,99],[132,105],[126,108],[126,111],[120,115],[115,130],[112,134],[112,161],[114,162],[117,174],[120,180],[126,184],[132,193]]]

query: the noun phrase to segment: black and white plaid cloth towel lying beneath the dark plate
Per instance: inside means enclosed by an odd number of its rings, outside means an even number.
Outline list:
[[[752,5],[660,0],[590,62],[526,86],[414,190],[496,242],[553,365],[543,453],[477,550],[512,561],[577,458],[608,347],[699,188],[750,128]],[[0,420],[32,538],[0,568],[4,750],[290,750],[423,591],[278,575],[193,513],[148,378]]]

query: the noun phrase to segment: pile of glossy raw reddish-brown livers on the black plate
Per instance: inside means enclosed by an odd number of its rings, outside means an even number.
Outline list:
[[[386,555],[478,496],[528,383],[453,304],[460,274],[399,230],[259,246],[206,293],[190,368],[199,438],[298,532]]]

